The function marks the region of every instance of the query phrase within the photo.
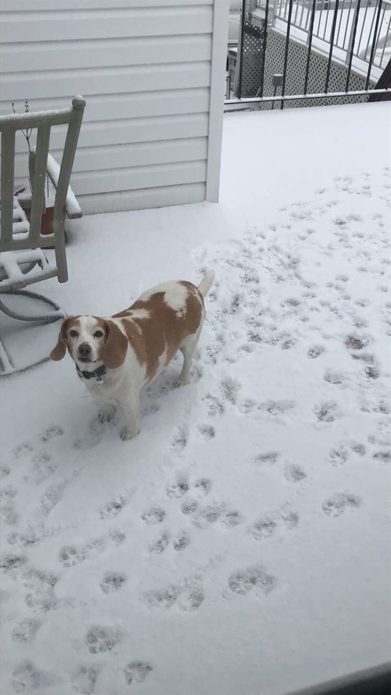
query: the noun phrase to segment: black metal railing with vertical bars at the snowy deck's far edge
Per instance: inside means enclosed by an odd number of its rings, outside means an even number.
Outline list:
[[[249,3],[249,0],[242,0],[242,17],[241,17],[241,31],[239,37],[239,46],[237,54],[237,79],[235,79],[234,87],[234,97],[226,99],[227,104],[233,104],[237,101],[241,103],[251,103],[256,101],[271,101],[276,103],[280,102],[280,108],[284,108],[285,102],[297,99],[307,99],[313,100],[316,104],[317,100],[333,99],[333,101],[341,100],[342,97],[365,97],[369,93],[374,92],[386,93],[390,84],[381,90],[374,90],[374,85],[381,76],[381,68],[378,67],[375,61],[376,52],[380,51],[381,61],[383,61],[385,54],[385,46],[391,42],[391,29],[390,21],[388,16],[385,14],[390,10],[391,3],[390,0],[376,0],[375,6],[372,5],[371,13],[368,13],[369,0],[349,0],[349,8],[345,8],[346,0],[333,0],[327,3],[324,8],[324,0],[260,0],[257,5],[257,13],[255,15],[257,19],[257,26],[262,26],[262,31],[260,32],[260,44],[257,51],[257,60],[260,62],[260,75],[257,85],[257,89],[253,93],[248,92],[248,88],[244,89],[244,85],[248,85],[249,81],[246,79],[246,70],[248,65],[248,58],[246,56],[246,51],[248,51],[248,45],[246,44],[246,31],[250,31],[252,28],[251,23],[253,22],[253,14],[249,11],[253,7],[254,3]],[[301,13],[298,10],[298,5],[301,6]],[[365,8],[365,13],[360,13],[362,8]],[[305,10],[305,11],[304,11]],[[280,15],[277,17],[276,13],[280,11]],[[324,12],[325,15],[322,18],[321,13]],[[280,24],[276,25],[276,17],[280,19]],[[330,24],[328,21],[330,19]],[[368,22],[365,26],[365,22]],[[261,25],[260,25],[261,22]],[[298,35],[298,25],[302,24],[306,31],[306,40],[303,41],[303,37]],[[319,48],[319,26],[323,23],[324,28],[322,41],[324,42],[323,49]],[[317,31],[315,31],[315,26],[317,24]],[[246,28],[247,27],[247,28]],[[383,29],[382,29],[383,27]],[[285,46],[283,48],[283,58],[281,60],[282,65],[280,65],[277,74],[270,74],[270,67],[268,68],[268,74],[266,75],[266,65],[268,51],[271,51],[269,46],[269,36],[270,32],[273,30],[274,33],[278,33],[279,37],[285,37]],[[383,31],[384,35],[381,35]],[[344,33],[343,42],[346,44],[346,51],[344,54],[344,59],[342,60],[340,55],[340,45],[342,38],[340,40],[340,34]],[[349,35],[349,42],[346,43],[346,36]],[[360,65],[358,65],[358,46],[362,42],[362,36],[365,36],[366,47],[365,47],[365,59],[361,59]],[[326,39],[325,39],[326,37]],[[369,38],[372,37],[372,43],[369,43]],[[282,39],[284,40],[284,39]],[[292,54],[289,49],[292,47],[292,40],[294,42],[301,43],[301,49],[303,56],[303,51],[306,52],[305,59],[301,58],[300,70],[296,70],[296,66],[292,65]],[[324,83],[319,85],[319,89],[316,90],[312,88],[309,90],[309,85],[312,83],[319,84],[319,74],[317,74],[317,80],[310,79],[311,76],[311,58],[313,56],[313,51],[316,49],[317,54],[324,54]],[[293,58],[295,59],[295,58]],[[290,63],[289,63],[290,61]],[[374,62],[375,61],[375,62]],[[273,58],[273,70],[276,67],[276,56]],[[377,60],[378,62],[378,60]],[[381,63],[383,65],[383,63]],[[338,70],[335,71],[335,66]],[[293,73],[295,75],[295,87],[292,86],[292,79],[289,83],[289,70],[294,67]],[[357,88],[360,80],[355,79],[353,84],[356,82],[356,89],[351,90],[352,82],[352,72],[356,77],[360,78],[362,81],[362,89]],[[276,72],[276,70],[274,70]],[[300,74],[300,82],[298,82],[297,74]],[[318,70],[319,73],[319,70]],[[278,81],[274,78],[277,76],[282,78]],[[265,84],[267,81],[267,88]],[[338,84],[340,83],[340,85]],[[276,85],[280,86],[280,94],[276,95]],[[300,86],[302,84],[302,86]],[[274,86],[273,93],[270,87]],[[299,86],[298,86],[299,85]],[[330,90],[330,85],[333,87]],[[335,86],[337,85],[337,90]],[[232,97],[232,85],[228,85],[228,95]],[[339,88],[340,87],[340,88]],[[372,89],[371,89],[372,88]],[[298,93],[293,93],[296,91]],[[291,92],[291,93],[287,93]],[[391,95],[391,90],[390,90]],[[345,99],[346,100],[346,99]],[[274,106],[272,103],[272,107]],[[309,103],[309,101],[308,101]],[[324,102],[325,103],[325,102]],[[326,102],[330,103],[330,102]]]

